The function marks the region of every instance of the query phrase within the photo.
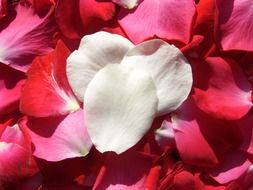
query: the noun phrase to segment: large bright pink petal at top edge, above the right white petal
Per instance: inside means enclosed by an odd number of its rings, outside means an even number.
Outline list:
[[[134,11],[122,9],[119,23],[134,43],[155,36],[187,43],[194,15],[193,0],[144,0]]]

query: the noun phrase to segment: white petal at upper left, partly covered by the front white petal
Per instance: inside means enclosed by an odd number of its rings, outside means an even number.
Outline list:
[[[80,101],[94,75],[107,64],[120,63],[125,53],[134,47],[126,38],[107,32],[97,32],[82,38],[79,49],[67,59],[67,77]]]

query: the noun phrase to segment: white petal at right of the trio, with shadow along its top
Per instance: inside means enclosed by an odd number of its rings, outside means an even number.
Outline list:
[[[162,40],[135,46],[126,53],[121,64],[147,71],[153,77],[159,99],[158,115],[177,109],[190,93],[190,64],[178,48]]]

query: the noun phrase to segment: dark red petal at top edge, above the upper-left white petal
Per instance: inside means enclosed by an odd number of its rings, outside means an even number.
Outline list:
[[[104,27],[115,14],[112,2],[96,0],[61,0],[56,6],[56,22],[70,39],[80,39]]]

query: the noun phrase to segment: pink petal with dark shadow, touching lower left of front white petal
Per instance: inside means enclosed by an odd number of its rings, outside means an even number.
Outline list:
[[[33,155],[44,160],[84,157],[92,146],[81,109],[68,116],[28,118],[21,125],[29,128],[34,144]]]

